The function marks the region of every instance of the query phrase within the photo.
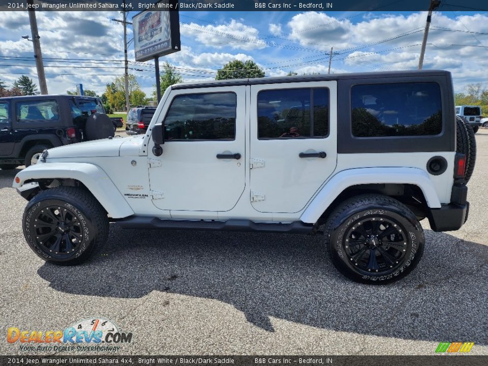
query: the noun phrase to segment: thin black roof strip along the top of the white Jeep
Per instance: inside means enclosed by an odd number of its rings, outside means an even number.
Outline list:
[[[257,84],[278,84],[303,81],[328,81],[341,79],[374,79],[389,77],[412,77],[412,76],[449,76],[449,71],[444,70],[402,70],[402,71],[381,71],[381,72],[362,72],[346,74],[324,74],[324,75],[296,75],[296,76],[273,76],[252,79],[228,79],[228,80],[208,80],[188,83],[174,84],[172,89],[187,89],[197,87],[216,87],[234,85],[257,85]]]

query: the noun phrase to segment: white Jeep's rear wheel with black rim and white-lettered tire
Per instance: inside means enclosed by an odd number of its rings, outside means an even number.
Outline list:
[[[335,268],[366,284],[402,279],[417,266],[424,249],[423,230],[413,212],[383,195],[364,194],[341,203],[330,214],[324,235]]]

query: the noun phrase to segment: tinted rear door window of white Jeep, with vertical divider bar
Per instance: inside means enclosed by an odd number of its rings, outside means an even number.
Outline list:
[[[258,138],[323,137],[328,125],[327,88],[263,90],[258,95]]]

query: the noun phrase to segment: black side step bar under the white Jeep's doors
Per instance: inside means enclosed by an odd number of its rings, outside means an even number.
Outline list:
[[[255,223],[250,220],[187,221],[131,216],[125,219],[114,220],[114,222],[126,229],[225,230],[283,233],[309,233],[313,229],[313,224],[306,224],[301,221],[295,221],[290,224],[266,224]]]

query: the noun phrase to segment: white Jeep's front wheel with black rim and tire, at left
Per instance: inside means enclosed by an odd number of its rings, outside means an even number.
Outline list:
[[[105,209],[86,189],[56,187],[27,204],[22,229],[27,244],[39,257],[53,264],[76,265],[107,241],[109,223]]]

